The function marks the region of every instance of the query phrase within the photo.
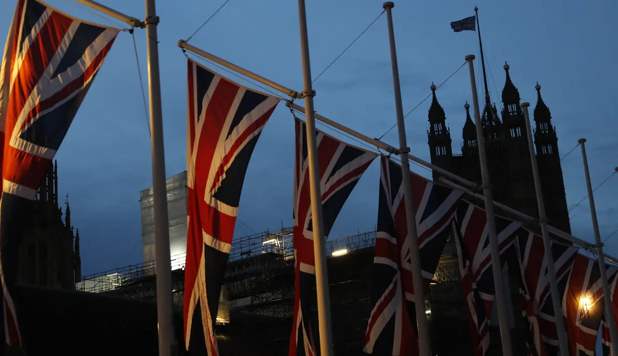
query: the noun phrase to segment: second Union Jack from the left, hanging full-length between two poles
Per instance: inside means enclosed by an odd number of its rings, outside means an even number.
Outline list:
[[[253,148],[279,99],[188,60],[188,233],[184,332],[189,351],[218,355],[219,295]]]

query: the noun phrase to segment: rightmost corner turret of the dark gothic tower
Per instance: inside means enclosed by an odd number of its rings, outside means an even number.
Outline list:
[[[570,233],[569,210],[564,191],[556,127],[551,123],[551,112],[549,112],[549,107],[541,97],[541,86],[538,82],[535,89],[537,99],[534,112],[536,123],[534,138],[543,201],[545,202],[549,224]]]

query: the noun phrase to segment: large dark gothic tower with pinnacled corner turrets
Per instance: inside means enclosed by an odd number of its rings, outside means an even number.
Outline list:
[[[502,89],[502,120],[496,104],[485,103],[481,121],[485,136],[489,175],[494,199],[513,209],[538,218],[535,183],[532,175],[528,138],[519,91],[510,79],[509,65],[504,64],[506,83]],[[537,101],[534,109],[534,139],[543,200],[549,224],[570,233],[569,210],[562,179],[562,167],[556,128],[551,113],[541,97],[541,86],[536,83]],[[431,85],[433,101],[429,109],[430,130],[427,131],[431,163],[467,180],[481,184],[481,169],[476,146],[476,128],[470,115],[470,104],[465,103],[466,120],[462,130],[461,154],[453,154],[451,131],[446,126],[446,115],[436,97],[436,86]],[[433,173],[438,180],[439,173]]]

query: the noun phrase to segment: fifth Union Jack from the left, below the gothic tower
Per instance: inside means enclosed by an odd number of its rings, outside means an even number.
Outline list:
[[[516,253],[515,238],[522,224],[499,216],[495,221],[501,257]],[[454,230],[470,334],[475,354],[483,356],[489,349],[489,320],[496,293],[485,210],[462,201],[455,213]]]

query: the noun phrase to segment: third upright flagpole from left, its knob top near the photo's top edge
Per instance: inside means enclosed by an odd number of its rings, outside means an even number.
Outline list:
[[[389,42],[391,43],[392,85],[395,91],[397,129],[399,131],[399,154],[401,157],[402,184],[404,184],[405,220],[408,225],[407,242],[410,244],[410,255],[412,257],[412,283],[418,327],[418,354],[421,356],[431,356],[429,329],[425,313],[425,291],[423,289],[420,253],[418,252],[417,220],[412,200],[412,182],[410,181],[410,163],[408,162],[410,147],[408,147],[405,138],[404,109],[401,103],[397,49],[395,48],[395,32],[392,26],[392,8],[395,7],[395,4],[390,1],[384,2],[382,7],[386,10]]]

